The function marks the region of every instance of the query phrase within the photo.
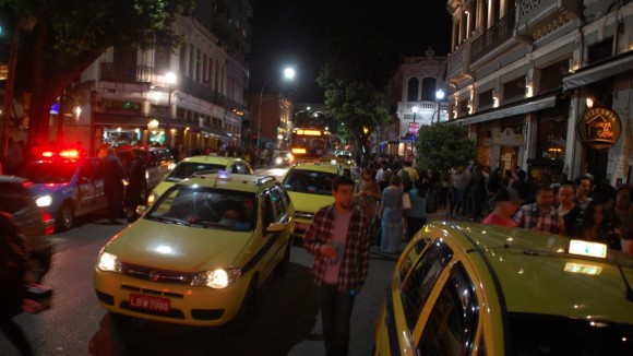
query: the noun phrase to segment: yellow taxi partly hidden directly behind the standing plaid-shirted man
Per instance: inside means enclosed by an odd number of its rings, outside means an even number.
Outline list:
[[[334,203],[332,178],[342,174],[342,167],[330,162],[299,163],[286,173],[282,183],[295,206],[297,237],[303,236],[320,207]]]

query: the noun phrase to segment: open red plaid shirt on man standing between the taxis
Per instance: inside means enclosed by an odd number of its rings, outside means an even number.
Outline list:
[[[327,260],[321,256],[321,246],[332,242],[334,205],[323,206],[315,214],[303,235],[303,247],[314,256],[312,277],[321,285]],[[369,221],[360,209],[354,209],[347,230],[345,252],[338,271],[338,290],[360,292],[369,270]]]

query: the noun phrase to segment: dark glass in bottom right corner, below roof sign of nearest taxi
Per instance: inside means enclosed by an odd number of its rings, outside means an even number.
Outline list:
[[[512,355],[633,355],[631,324],[530,313],[509,317]]]

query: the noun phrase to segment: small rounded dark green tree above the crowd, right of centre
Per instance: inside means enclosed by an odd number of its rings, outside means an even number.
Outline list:
[[[449,171],[476,157],[475,141],[461,124],[422,126],[416,142],[418,168]]]

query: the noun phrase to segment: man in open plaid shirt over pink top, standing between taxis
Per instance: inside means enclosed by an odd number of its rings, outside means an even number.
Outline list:
[[[369,221],[351,203],[351,178],[334,178],[332,195],[334,204],[314,214],[303,247],[314,256],[312,277],[319,286],[325,354],[347,355],[354,300],[369,269]]]

